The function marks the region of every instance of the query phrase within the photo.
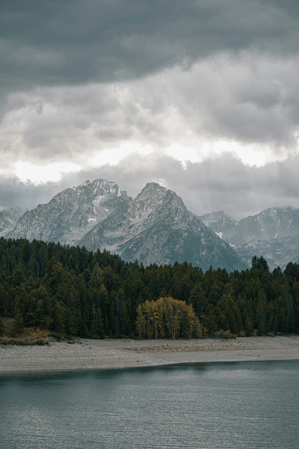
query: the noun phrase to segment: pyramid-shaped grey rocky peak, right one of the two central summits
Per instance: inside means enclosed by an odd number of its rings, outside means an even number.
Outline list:
[[[100,249],[146,265],[187,260],[204,270],[210,265],[243,268],[230,246],[187,211],[180,197],[156,183],[147,184],[130,203],[118,204],[79,244],[95,251],[99,242]]]

